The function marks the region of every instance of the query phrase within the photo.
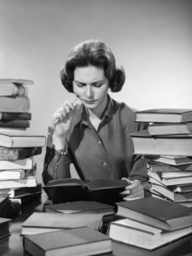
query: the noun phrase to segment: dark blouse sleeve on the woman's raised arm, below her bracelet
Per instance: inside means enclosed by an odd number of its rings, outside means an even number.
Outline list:
[[[44,184],[50,180],[61,179],[65,177],[71,177],[70,163],[72,162],[69,154],[61,154],[55,150],[55,146],[52,144],[51,128],[49,127],[47,137],[47,148],[44,157],[44,171],[42,173]]]

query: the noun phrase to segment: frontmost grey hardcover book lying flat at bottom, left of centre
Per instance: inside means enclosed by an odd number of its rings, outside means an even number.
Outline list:
[[[112,251],[112,242],[110,237],[84,227],[24,236],[23,247],[34,256],[83,256],[109,253]]]

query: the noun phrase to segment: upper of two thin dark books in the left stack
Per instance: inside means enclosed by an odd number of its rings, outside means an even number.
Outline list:
[[[23,112],[0,112],[0,120],[2,121],[10,121],[10,120],[31,120],[32,113]]]

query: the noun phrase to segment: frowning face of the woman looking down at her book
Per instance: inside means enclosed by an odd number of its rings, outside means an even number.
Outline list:
[[[108,79],[103,68],[95,66],[76,67],[74,70],[73,92],[88,108],[102,115],[108,102]]]

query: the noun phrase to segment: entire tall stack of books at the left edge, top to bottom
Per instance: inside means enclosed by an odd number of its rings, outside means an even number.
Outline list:
[[[26,79],[0,79],[0,195],[11,201],[41,196],[33,156],[42,153],[45,137],[30,127],[30,99]]]

